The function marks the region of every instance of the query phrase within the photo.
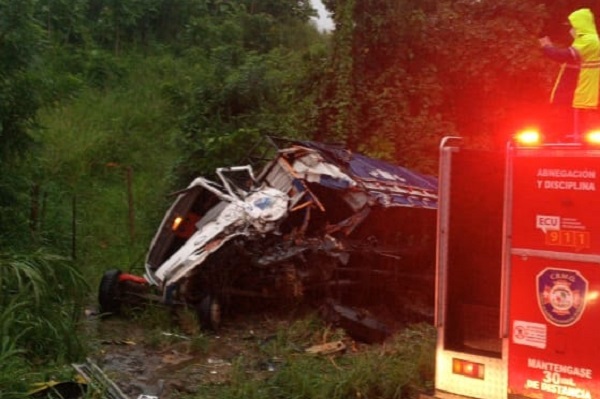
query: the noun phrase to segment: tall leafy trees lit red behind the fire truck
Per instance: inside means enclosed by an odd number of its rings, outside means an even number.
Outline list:
[[[325,4],[335,74],[320,126],[352,149],[433,172],[441,136],[495,145],[547,101],[538,1]]]

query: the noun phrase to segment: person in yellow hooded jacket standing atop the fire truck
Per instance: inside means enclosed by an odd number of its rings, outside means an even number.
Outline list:
[[[596,114],[600,90],[600,40],[594,15],[589,8],[572,12],[568,21],[574,39],[570,47],[556,47],[548,36],[539,41],[544,55],[561,63],[550,102],[560,108],[555,111],[562,114],[563,119],[571,122],[568,124],[570,126],[564,126],[562,129],[571,130],[570,136],[574,141],[579,141],[583,129],[590,127],[594,119],[598,120]]]

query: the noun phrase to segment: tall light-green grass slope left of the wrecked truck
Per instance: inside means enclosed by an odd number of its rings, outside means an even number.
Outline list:
[[[143,266],[185,153],[177,146],[177,115],[156,84],[175,62],[123,62],[137,66],[118,88],[83,89],[40,113],[43,147],[31,162],[45,197],[45,232],[62,237],[68,250],[75,234],[77,261],[92,285],[109,268]]]

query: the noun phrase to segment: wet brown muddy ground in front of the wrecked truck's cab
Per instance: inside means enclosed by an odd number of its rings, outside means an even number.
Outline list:
[[[268,378],[277,372],[281,360],[270,357],[264,346],[310,310],[236,315],[224,321],[218,333],[200,332],[193,317],[168,315],[165,322],[165,312],[144,313],[141,317],[92,314],[86,321],[90,359],[132,399],[199,393],[212,397],[210,392],[218,392],[219,386],[231,380],[236,359],[242,356],[247,378]],[[298,352],[304,353],[311,342],[326,343],[334,338],[318,334],[321,336],[316,339],[307,336],[298,342]],[[360,350],[361,344],[344,340],[347,348]]]

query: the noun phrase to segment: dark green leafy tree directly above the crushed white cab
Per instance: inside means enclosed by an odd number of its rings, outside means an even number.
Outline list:
[[[306,137],[327,59],[307,1],[206,4],[209,16],[192,16],[181,43],[195,73],[167,88],[190,152],[185,183],[240,162],[261,136]]]

